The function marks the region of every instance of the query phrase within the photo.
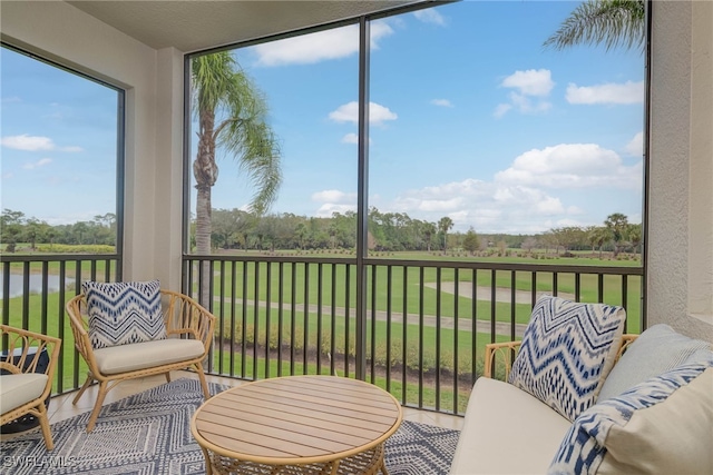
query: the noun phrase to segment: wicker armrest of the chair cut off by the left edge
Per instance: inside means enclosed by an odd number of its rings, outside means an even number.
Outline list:
[[[45,370],[41,372],[47,375],[47,386],[42,393],[42,398],[47,397],[55,383],[55,368],[59,360],[59,349],[62,340],[9,325],[0,325],[0,335],[3,343],[0,369],[11,374],[39,373],[37,369],[42,352],[47,352],[49,360]]]

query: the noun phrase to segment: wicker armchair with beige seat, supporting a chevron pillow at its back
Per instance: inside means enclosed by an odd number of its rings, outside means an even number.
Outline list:
[[[169,372],[193,366],[205,398],[211,397],[202,362],[211,349],[216,318],[186,295],[170,290],[160,290],[160,294],[166,339],[101,349],[92,348],[89,339],[85,296],[80,294],[67,303],[75,347],[89,366],[87,380],[72,404],[77,404],[95,380],[99,383],[97,400],[87,423],[88,433],[95,427],[107,393],[126,379],[165,374],[166,380],[170,382]]]

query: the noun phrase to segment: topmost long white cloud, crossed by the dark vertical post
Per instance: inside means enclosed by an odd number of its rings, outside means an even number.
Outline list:
[[[371,48],[379,49],[379,40],[393,33],[384,21],[371,23]],[[313,65],[320,61],[345,58],[359,51],[359,26],[318,31],[254,47],[257,65],[272,67],[284,65]]]

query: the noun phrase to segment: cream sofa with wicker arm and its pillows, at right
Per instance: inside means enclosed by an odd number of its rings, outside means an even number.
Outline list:
[[[476,382],[452,475],[713,473],[711,344],[655,325],[638,338],[616,328],[604,348],[607,338],[579,331],[606,311],[546,296],[521,342],[488,346],[486,376],[505,380]],[[598,359],[582,339],[604,349]],[[592,390],[563,396],[577,372]]]

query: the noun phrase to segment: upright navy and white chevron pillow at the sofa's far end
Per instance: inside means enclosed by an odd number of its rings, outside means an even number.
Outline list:
[[[614,366],[625,319],[622,307],[543,295],[508,383],[574,420],[596,403]]]

